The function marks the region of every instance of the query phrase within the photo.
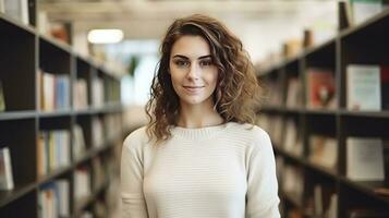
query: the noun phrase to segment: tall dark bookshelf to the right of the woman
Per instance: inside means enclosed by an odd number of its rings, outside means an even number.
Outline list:
[[[387,108],[376,111],[350,110],[347,107],[348,65],[376,64],[389,65],[389,10],[368,19],[360,25],[339,31],[331,39],[321,45],[307,48],[294,58],[288,58],[272,68],[259,72],[258,80],[267,90],[268,100],[258,111],[258,124],[267,130],[273,142],[277,167],[279,171],[282,217],[374,217],[374,213],[389,214],[389,195],[377,194],[377,187],[389,189],[389,153],[388,129],[389,112]],[[309,107],[307,90],[308,69],[326,69],[335,80],[333,107]],[[302,105],[288,104],[291,95],[289,80],[296,78],[302,84]],[[382,82],[381,82],[382,83]],[[278,92],[277,95],[275,92]],[[293,90],[295,92],[295,90]],[[385,98],[389,95],[381,93]],[[275,98],[282,99],[281,101]],[[296,155],[285,144],[288,120],[296,123],[295,134],[301,134],[303,152]],[[279,123],[279,124],[277,124]],[[281,126],[281,128],[278,128]],[[281,129],[281,133],[277,133]],[[331,169],[309,159],[312,153],[309,138],[313,135],[331,138],[336,142],[336,164]],[[382,138],[385,179],[381,181],[356,181],[347,175],[348,144],[347,138],[378,137]],[[292,152],[291,152],[292,150]],[[300,186],[288,183],[288,178],[302,174]],[[290,180],[300,179],[293,178]],[[293,186],[296,185],[296,186]],[[301,193],[289,194],[283,187],[301,190]],[[320,194],[318,194],[320,193]],[[331,195],[336,195],[333,201]],[[302,195],[301,199],[295,196]],[[316,205],[315,197],[320,195],[321,205]],[[332,204],[332,206],[331,206]],[[331,207],[331,211],[329,208]],[[329,215],[332,213],[332,215]],[[333,214],[335,213],[335,214]],[[368,214],[370,213],[370,214]],[[386,214],[382,217],[388,216]],[[336,215],[336,216],[335,216]]]

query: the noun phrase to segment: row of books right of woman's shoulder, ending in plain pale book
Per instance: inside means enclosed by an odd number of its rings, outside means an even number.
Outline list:
[[[291,156],[304,156],[303,138],[294,118],[260,114],[258,125],[265,129],[273,146]],[[312,133],[307,136],[307,159],[337,173],[339,143],[333,135]],[[345,177],[352,181],[384,181],[387,138],[349,135],[345,137]]]

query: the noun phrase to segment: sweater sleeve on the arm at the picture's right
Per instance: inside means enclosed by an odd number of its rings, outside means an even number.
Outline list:
[[[260,130],[248,155],[246,218],[279,218],[276,161],[269,135]]]

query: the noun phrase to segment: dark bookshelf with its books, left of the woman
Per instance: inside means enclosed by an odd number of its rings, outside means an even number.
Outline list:
[[[10,148],[15,184],[13,190],[0,191],[0,217],[41,217],[41,196],[52,193],[53,183],[60,181],[66,183],[65,193],[69,193],[56,195],[60,201],[66,199],[69,205],[66,215],[61,217],[110,217],[112,202],[118,196],[112,192],[118,191],[118,149],[124,133],[120,78],[94,59],[77,55],[69,45],[39,34],[37,1],[27,2],[29,25],[0,12],[0,81],[5,100],[5,110],[0,111],[0,148]],[[60,95],[54,97],[51,109],[42,106],[48,98],[42,94],[47,85],[41,78],[42,72],[56,81],[57,76],[64,78],[61,89],[57,84],[51,87],[52,93]],[[93,88],[96,78],[101,87],[97,94]],[[94,98],[99,102],[95,104]],[[94,120],[98,120],[98,128]],[[81,128],[83,135],[81,154],[75,150],[75,126]],[[104,136],[96,130],[109,134]],[[52,149],[56,157],[48,157],[46,165],[53,165],[52,168],[39,173],[42,132],[47,135],[65,132],[68,141],[62,138],[58,147],[46,147]],[[84,175],[76,179],[78,169]],[[76,184],[76,181],[83,182]],[[89,186],[90,192],[77,198],[76,186],[83,189],[83,185]]]

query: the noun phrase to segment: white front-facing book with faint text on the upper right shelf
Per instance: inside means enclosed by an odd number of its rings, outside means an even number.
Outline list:
[[[347,68],[347,108],[381,110],[379,65],[350,64]]]

